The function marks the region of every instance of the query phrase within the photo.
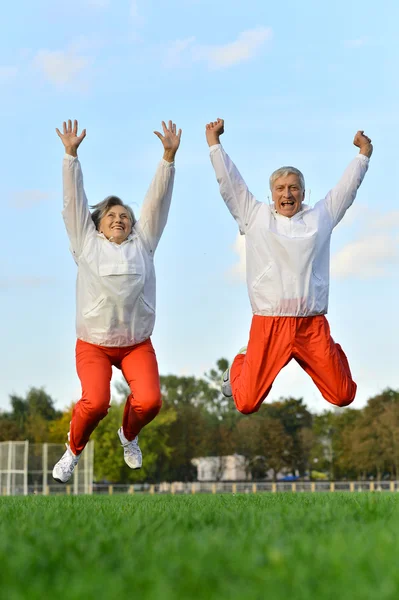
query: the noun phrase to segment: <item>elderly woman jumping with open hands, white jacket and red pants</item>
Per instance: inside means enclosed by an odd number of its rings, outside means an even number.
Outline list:
[[[63,217],[77,275],[76,368],[82,398],[73,410],[67,450],[53,469],[55,480],[66,483],[92,431],[110,404],[112,366],[121,369],[129,395],[119,439],[124,459],[139,469],[142,455],[138,434],[161,408],[157,359],[151,343],[155,322],[154,253],[166,225],[172,197],[174,158],[181,130],[162,122],[164,147],[136,220],[120,198],[109,196],[90,213],[77,149],[86,136],[78,123],[56,129],[65,146]]]

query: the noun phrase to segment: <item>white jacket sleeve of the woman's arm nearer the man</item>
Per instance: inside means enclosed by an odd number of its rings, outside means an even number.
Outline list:
[[[174,163],[161,160],[144,198],[137,229],[154,253],[168,220],[175,178]]]

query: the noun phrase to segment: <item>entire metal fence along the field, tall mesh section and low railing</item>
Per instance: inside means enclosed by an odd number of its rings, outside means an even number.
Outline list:
[[[217,481],[159,484],[93,483],[94,442],[89,442],[67,485],[52,478],[63,444],[0,442],[0,496],[27,494],[256,494],[301,492],[399,492],[399,481]]]

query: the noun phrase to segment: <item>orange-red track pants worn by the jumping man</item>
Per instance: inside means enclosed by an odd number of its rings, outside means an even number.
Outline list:
[[[336,406],[353,402],[357,386],[341,346],[330,335],[324,315],[254,315],[247,352],[236,356],[230,369],[237,409],[245,414],[259,410],[275,378],[293,358],[328,402]]]

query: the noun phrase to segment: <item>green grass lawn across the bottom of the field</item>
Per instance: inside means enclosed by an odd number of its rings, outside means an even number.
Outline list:
[[[0,498],[0,598],[399,597],[399,495]]]

